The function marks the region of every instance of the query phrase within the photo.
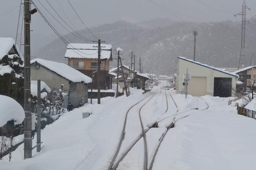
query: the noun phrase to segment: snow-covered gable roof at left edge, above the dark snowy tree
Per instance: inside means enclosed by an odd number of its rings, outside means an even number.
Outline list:
[[[0,59],[2,59],[5,55],[9,54],[11,48],[15,46],[17,55],[20,56],[21,60],[24,61],[22,54],[20,53],[19,47],[15,44],[15,40],[13,38],[0,38]]]

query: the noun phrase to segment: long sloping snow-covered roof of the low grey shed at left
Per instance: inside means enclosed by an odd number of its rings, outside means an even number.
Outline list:
[[[75,70],[72,67],[69,67],[67,64],[57,63],[54,61],[47,61],[39,58],[31,60],[30,64],[33,64],[36,62],[48,68],[49,70],[52,70],[58,75],[70,80],[71,82],[85,82],[85,83],[92,82],[92,79],[90,77],[82,74],[80,71]]]

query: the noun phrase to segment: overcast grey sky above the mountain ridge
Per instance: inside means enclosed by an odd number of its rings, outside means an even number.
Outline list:
[[[16,39],[18,21],[21,24],[23,18],[20,17],[20,20],[18,20],[20,2],[18,0],[1,0],[0,37],[12,37]],[[242,12],[243,4],[243,0],[33,0],[33,2],[51,24],[56,27],[60,34],[68,33],[66,29],[72,31],[62,19],[74,30],[85,29],[84,24],[90,28],[119,20],[134,23],[162,17],[193,22],[241,21],[241,16],[234,17],[234,14]],[[256,15],[255,0],[246,0],[246,6],[251,8],[250,11],[248,9],[246,10],[247,19]],[[31,8],[33,9],[34,7],[32,6]],[[36,42],[35,39],[37,39],[37,42],[40,42],[41,40],[43,41],[42,46],[58,38],[39,15],[39,12],[31,16],[31,30],[33,30],[31,32],[31,41]],[[18,34],[20,33],[21,25],[18,30]],[[23,38],[21,40],[23,44]],[[36,47],[39,48],[38,46]],[[21,50],[23,51],[23,47],[21,47]],[[36,49],[31,46],[31,51],[36,51]]]

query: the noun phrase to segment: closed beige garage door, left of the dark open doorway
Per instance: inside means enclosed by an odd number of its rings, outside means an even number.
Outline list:
[[[192,96],[206,95],[206,77],[191,77],[188,82],[187,94]]]

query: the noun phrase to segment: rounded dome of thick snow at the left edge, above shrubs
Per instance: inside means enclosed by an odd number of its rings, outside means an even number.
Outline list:
[[[25,118],[23,107],[14,99],[0,95],[0,127],[7,123],[9,120],[16,120],[20,124]]]

